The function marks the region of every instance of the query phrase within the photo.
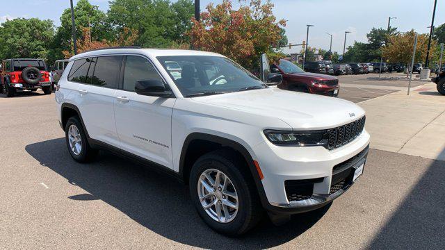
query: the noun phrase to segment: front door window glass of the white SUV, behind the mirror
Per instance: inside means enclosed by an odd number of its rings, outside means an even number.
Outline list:
[[[161,76],[147,59],[140,56],[127,56],[124,70],[124,90],[134,91],[136,81],[148,79],[162,81]]]

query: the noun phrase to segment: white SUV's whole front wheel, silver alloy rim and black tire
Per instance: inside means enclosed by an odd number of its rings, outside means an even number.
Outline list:
[[[218,189],[215,189],[213,195],[207,192],[208,189],[201,184],[201,180],[205,180],[207,185],[211,183],[208,178],[202,177],[202,174],[207,173],[214,183],[217,172],[220,173],[221,181],[228,178],[227,190],[229,191],[223,189],[218,193]],[[232,151],[220,149],[198,158],[191,169],[189,180],[191,199],[197,213],[210,228],[218,233],[229,236],[242,235],[256,226],[264,215],[252,175],[243,158]],[[208,188],[211,190],[211,185]],[[209,196],[209,198],[200,201],[203,192],[207,192],[204,197]],[[237,199],[227,195],[228,192],[235,194]],[[225,206],[227,201],[232,201],[232,206],[237,203],[238,209]],[[202,202],[213,203],[213,205],[205,210],[203,207],[205,204],[203,205]],[[216,214],[217,206],[220,206],[221,216]]]

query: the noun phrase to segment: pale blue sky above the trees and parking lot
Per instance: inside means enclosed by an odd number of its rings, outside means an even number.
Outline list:
[[[60,15],[65,8],[70,8],[70,0],[0,0],[0,23],[16,17],[38,17],[54,20],[60,25]],[[173,0],[175,1],[175,0]],[[431,24],[434,0],[271,0],[275,7],[273,13],[277,19],[287,20],[286,35],[289,42],[300,44],[306,40],[306,24],[309,28],[309,46],[326,49],[330,47],[332,34],[332,51],[343,53],[344,32],[348,33],[346,47],[354,41],[366,42],[366,33],[371,28],[387,28],[388,17],[391,26],[398,31],[414,31],[428,33],[426,28]],[[74,0],[76,4],[77,0]],[[222,0],[201,0],[200,8],[207,4],[218,4]],[[234,9],[238,8],[238,0],[233,0]],[[90,0],[100,10],[108,10],[108,0]],[[435,26],[445,23],[445,1],[437,1]],[[284,49],[286,53],[298,53],[300,47]]]

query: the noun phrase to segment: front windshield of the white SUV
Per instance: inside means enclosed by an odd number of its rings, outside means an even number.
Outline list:
[[[228,58],[159,56],[157,59],[184,97],[266,88],[257,77]]]

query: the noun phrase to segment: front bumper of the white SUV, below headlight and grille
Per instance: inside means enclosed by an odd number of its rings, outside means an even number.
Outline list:
[[[259,144],[257,150],[261,151],[257,157],[264,174],[266,210],[302,213],[325,206],[353,185],[351,174],[366,161],[368,155],[369,133],[364,130],[353,142],[333,150],[280,147],[268,142]],[[309,183],[309,193],[290,196],[289,185],[286,184],[289,181]]]

